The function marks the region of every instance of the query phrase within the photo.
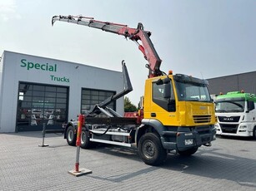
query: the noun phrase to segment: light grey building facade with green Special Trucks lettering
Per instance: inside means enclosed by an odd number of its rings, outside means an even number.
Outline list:
[[[120,64],[121,68],[121,64]],[[59,130],[123,91],[123,74],[69,61],[4,51],[0,61],[0,132]],[[109,107],[123,115],[123,99]]]

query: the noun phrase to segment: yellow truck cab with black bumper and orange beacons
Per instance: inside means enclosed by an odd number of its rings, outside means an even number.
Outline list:
[[[215,140],[214,105],[208,81],[183,74],[149,78],[142,124],[153,127],[164,149],[197,149]]]

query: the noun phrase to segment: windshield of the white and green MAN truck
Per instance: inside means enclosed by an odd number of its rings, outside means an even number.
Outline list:
[[[216,113],[243,112],[244,103],[244,100],[216,101],[215,111]]]

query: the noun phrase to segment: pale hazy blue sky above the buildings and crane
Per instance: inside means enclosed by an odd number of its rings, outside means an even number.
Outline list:
[[[123,36],[68,22],[83,15],[152,32],[161,70],[198,78],[256,71],[256,0],[0,0],[0,56],[16,51],[113,71],[126,62],[138,105],[148,63]],[[95,76],[97,77],[97,76]]]

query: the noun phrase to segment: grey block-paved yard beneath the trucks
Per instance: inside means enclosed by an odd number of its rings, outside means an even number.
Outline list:
[[[76,147],[63,136],[41,132],[0,134],[0,190],[256,190],[256,141],[222,139],[189,158],[169,154],[160,167],[143,164],[133,150],[101,145],[81,149],[75,177]]]

